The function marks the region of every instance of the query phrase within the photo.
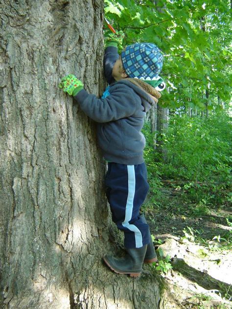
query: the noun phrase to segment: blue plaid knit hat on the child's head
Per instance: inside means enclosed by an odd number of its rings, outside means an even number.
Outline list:
[[[135,43],[121,53],[123,67],[129,77],[155,80],[162,69],[160,49],[151,43]]]

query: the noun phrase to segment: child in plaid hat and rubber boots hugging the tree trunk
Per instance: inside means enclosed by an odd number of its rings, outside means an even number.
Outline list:
[[[149,226],[139,209],[149,188],[141,129],[146,112],[161,97],[154,87],[164,85],[158,77],[162,54],[154,44],[136,43],[119,56],[117,43],[115,36],[106,45],[104,72],[110,86],[101,99],[88,94],[74,75],[63,78],[59,87],[97,122],[98,144],[108,161],[106,195],[112,219],[124,232],[127,255],[106,255],[104,261],[116,273],[137,277],[143,262],[157,261]]]

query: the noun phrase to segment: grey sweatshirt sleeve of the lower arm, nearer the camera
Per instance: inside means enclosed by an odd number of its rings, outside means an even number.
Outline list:
[[[99,123],[129,117],[136,110],[136,99],[132,91],[126,87],[116,88],[105,99],[98,99],[83,89],[74,96],[74,99],[79,103],[81,110]]]

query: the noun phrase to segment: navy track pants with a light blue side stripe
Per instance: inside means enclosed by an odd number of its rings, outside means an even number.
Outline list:
[[[124,232],[126,248],[140,248],[150,243],[149,226],[139,217],[139,209],[148,189],[145,163],[108,163],[106,196],[110,203],[112,219]]]

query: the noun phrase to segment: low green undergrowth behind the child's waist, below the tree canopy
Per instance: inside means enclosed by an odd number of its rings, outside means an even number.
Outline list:
[[[176,190],[196,203],[195,215],[209,214],[209,205],[229,203],[232,125],[225,111],[208,119],[173,114],[164,138],[165,162],[154,152],[153,135],[146,127],[144,133],[148,140],[144,155],[156,199],[164,178],[183,181]]]

